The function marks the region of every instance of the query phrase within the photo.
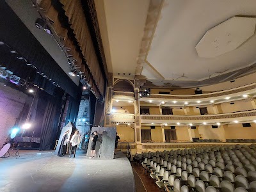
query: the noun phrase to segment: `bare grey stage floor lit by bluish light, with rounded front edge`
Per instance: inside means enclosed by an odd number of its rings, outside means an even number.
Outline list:
[[[12,155],[15,151],[10,151]],[[13,154],[14,155],[14,154]],[[0,191],[135,191],[131,164],[125,154],[116,159],[76,158],[51,152],[20,150],[20,157],[0,159]]]

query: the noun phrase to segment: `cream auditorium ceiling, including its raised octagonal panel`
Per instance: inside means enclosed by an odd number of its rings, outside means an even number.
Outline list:
[[[114,76],[193,88],[256,72],[255,0],[96,0],[95,6]]]

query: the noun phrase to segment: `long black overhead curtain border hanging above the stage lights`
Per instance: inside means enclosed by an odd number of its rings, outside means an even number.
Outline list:
[[[35,65],[39,72],[44,72],[49,79],[55,81],[69,95],[76,98],[79,88],[52,59],[5,1],[0,1],[0,18],[0,41],[12,47],[20,56]],[[10,70],[14,70],[17,76],[28,72],[19,66],[12,65],[12,67]],[[44,87],[48,88],[47,80],[41,78],[43,77],[38,76],[36,81],[45,84]],[[52,92],[53,90],[51,90]]]

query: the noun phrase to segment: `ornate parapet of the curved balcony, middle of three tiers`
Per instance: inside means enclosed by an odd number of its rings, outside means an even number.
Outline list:
[[[141,120],[213,120],[221,118],[237,118],[244,116],[256,116],[256,110],[238,112],[234,114],[217,114],[217,115],[141,115]]]

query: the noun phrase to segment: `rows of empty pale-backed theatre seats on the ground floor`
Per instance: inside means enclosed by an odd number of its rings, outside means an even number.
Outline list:
[[[256,144],[135,154],[160,191],[256,191]]]

